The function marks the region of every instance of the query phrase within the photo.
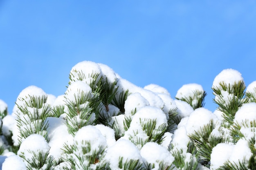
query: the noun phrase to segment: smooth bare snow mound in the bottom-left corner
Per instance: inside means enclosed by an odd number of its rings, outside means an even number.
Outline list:
[[[19,156],[11,155],[5,159],[2,170],[27,170],[27,167]]]

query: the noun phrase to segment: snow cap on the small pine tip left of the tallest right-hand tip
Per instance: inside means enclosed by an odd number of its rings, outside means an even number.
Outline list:
[[[200,84],[191,83],[191,84],[184,84],[176,94],[177,99],[187,98],[191,97],[192,99],[195,99],[195,91],[204,92],[203,87]],[[199,96],[200,97],[200,96]]]

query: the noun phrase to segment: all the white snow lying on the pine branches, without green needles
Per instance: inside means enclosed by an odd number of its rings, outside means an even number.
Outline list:
[[[91,82],[99,80],[99,77],[94,77],[94,75],[103,76],[104,79],[108,79],[109,83],[117,82],[116,86],[119,86],[116,97],[126,90],[129,90],[129,95],[125,101],[124,108],[125,112],[121,113],[117,106],[112,104],[108,105],[108,112],[105,106],[101,103],[101,113],[107,117],[105,126],[103,124],[89,125],[79,128],[77,132],[74,132],[74,136],[69,134],[67,130],[67,104],[69,102],[77,102],[77,99],[84,96],[93,97],[92,95],[92,84]],[[214,88],[220,88],[219,83],[225,82],[230,86],[243,81],[241,74],[233,69],[223,70],[213,81]],[[66,161],[61,162],[69,156],[72,157],[76,162],[79,162],[78,157],[73,157],[78,155],[79,157],[85,158],[93,154],[94,151],[102,151],[103,161],[109,163],[109,166],[113,170],[119,170],[119,161],[121,158],[122,164],[130,160],[138,160],[139,164],[144,166],[150,166],[151,169],[157,170],[164,166],[166,169],[168,166],[172,165],[174,161],[173,153],[180,152],[185,158],[185,162],[189,163],[191,160],[196,161],[194,155],[189,153],[188,144],[191,144],[191,139],[189,135],[194,134],[196,131],[200,131],[204,126],[213,121],[214,129],[211,132],[211,136],[214,137],[227,137],[231,138],[229,132],[230,129],[224,128],[223,113],[219,110],[215,110],[213,113],[206,108],[193,109],[188,103],[172,99],[170,93],[163,87],[156,84],[149,84],[144,88],[136,86],[126,79],[121,78],[117,73],[115,73],[112,68],[105,64],[97,64],[94,62],[84,61],[76,64],[70,71],[70,82],[67,87],[65,94],[55,97],[51,94],[46,94],[41,88],[36,86],[29,86],[21,91],[17,98],[17,104],[19,106],[26,106],[30,113],[38,112],[38,115],[42,113],[42,108],[33,108],[29,103],[29,96],[38,97],[44,99],[47,97],[47,102],[44,106],[51,106],[52,109],[58,106],[64,106],[64,113],[60,117],[47,117],[46,121],[49,123],[49,128],[47,129],[48,140],[38,134],[32,134],[26,139],[24,139],[18,150],[18,155],[14,155],[13,152],[5,150],[3,157],[0,157],[0,162],[2,161],[3,170],[22,170],[27,169],[26,165],[28,162],[32,161],[34,156],[32,152],[38,153],[42,152],[43,155],[49,152],[49,157],[53,157],[54,160],[59,163],[55,167],[56,170],[61,170],[63,167],[69,167],[72,169],[70,164]],[[256,81],[249,84],[247,87],[247,93],[253,93],[256,87]],[[234,95],[229,94],[227,91],[221,89],[222,98],[226,105],[229,105],[229,101],[233,99]],[[200,91],[204,92],[203,88],[199,84],[185,84],[178,91],[176,98],[192,98],[196,99],[193,92]],[[202,97],[202,96],[198,96]],[[220,96],[216,96],[216,100],[219,100]],[[28,105],[26,104],[28,103]],[[78,107],[85,107],[90,101],[86,101],[80,104]],[[192,102],[196,104],[196,100]],[[3,111],[7,105],[0,100],[0,112]],[[135,113],[136,109],[136,113]],[[162,132],[159,130],[161,127],[166,127],[169,119],[169,111],[177,110],[177,116],[180,117],[180,123],[175,125],[176,129],[171,132]],[[18,146],[18,136],[19,129],[17,127],[17,117],[16,114],[20,114],[22,121],[27,120],[28,123],[29,115],[23,115],[17,106],[13,108],[13,113],[7,115],[2,119],[2,134],[5,136],[13,134],[12,139],[14,146]],[[32,115],[31,115],[32,116]],[[97,119],[95,113],[92,114],[92,119]],[[37,117],[35,116],[34,119]],[[131,118],[130,126],[127,129],[124,128],[124,120],[126,118]],[[34,121],[31,119],[31,121]],[[79,122],[81,119],[79,115],[73,117]],[[1,121],[1,120],[0,120]],[[42,120],[39,120],[40,122]],[[89,120],[90,121],[90,120]],[[161,134],[160,139],[162,143],[157,144],[157,142],[150,141],[149,135],[147,133],[148,129],[144,129],[145,124],[150,121],[155,121],[156,125],[150,131],[150,135]],[[231,163],[239,163],[245,159],[245,165],[248,166],[248,161],[252,156],[252,152],[249,148],[249,139],[255,138],[255,127],[251,127],[250,122],[256,121],[256,103],[243,104],[237,111],[234,124],[232,126],[239,125],[240,132],[244,135],[243,138],[239,139],[236,144],[221,143],[217,144],[211,152],[211,161],[209,162],[210,169],[216,170],[223,166],[225,162],[230,161]],[[1,123],[1,122],[0,122]],[[245,126],[245,123],[248,126]],[[30,125],[29,125],[30,126]],[[115,131],[113,126],[117,129],[119,134],[119,139],[115,139]],[[27,128],[27,125],[22,124],[21,129]],[[34,128],[34,127],[30,127]],[[45,131],[46,132],[46,131]],[[164,135],[162,135],[164,133]],[[0,138],[0,145],[5,147],[4,138]],[[88,153],[83,153],[83,149],[89,145],[91,150]],[[64,146],[76,146],[73,153],[64,153]],[[72,147],[71,147],[72,148]],[[75,148],[75,147],[74,147]],[[19,155],[24,155],[25,160]],[[86,158],[85,158],[86,159]],[[83,162],[86,164],[86,160]],[[95,163],[97,164],[97,163]],[[93,164],[90,168],[96,168]],[[154,164],[154,168],[153,165]],[[207,170],[205,166],[199,164],[198,168],[200,170]],[[174,168],[175,169],[175,168]]]

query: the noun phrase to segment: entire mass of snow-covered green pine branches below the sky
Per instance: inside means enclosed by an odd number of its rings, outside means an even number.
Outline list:
[[[256,170],[256,82],[236,70],[214,79],[213,113],[199,84],[173,99],[90,61],[69,79],[58,97],[25,88],[11,114],[0,100],[2,170]]]

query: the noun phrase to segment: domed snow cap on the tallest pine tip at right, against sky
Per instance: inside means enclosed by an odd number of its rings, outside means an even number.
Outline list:
[[[244,82],[244,79],[241,73],[232,68],[225,69],[221,71],[213,80],[212,88],[221,88],[220,83],[225,82],[227,86],[233,86],[234,84],[238,84],[238,82]]]

